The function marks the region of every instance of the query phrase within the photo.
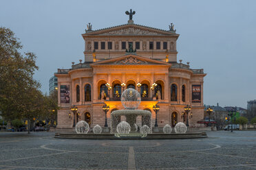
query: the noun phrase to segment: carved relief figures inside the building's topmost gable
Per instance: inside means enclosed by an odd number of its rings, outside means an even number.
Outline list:
[[[134,27],[128,27],[125,29],[119,29],[119,30],[115,30],[115,31],[111,31],[111,32],[106,32],[101,35],[129,35],[129,34],[150,35],[150,36],[162,35],[162,34],[158,34],[156,32],[149,32],[147,30],[142,30],[142,29],[138,29],[138,28],[134,28]]]

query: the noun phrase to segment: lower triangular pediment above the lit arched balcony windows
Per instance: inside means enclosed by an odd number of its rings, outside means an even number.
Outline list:
[[[94,64],[92,64],[92,66],[93,65],[169,65],[169,63],[136,55],[127,55],[100,62],[95,62]]]

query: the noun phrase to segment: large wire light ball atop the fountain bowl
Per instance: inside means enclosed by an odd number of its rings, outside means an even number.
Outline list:
[[[140,93],[134,88],[127,88],[122,92],[121,101],[126,109],[134,110],[140,105]]]

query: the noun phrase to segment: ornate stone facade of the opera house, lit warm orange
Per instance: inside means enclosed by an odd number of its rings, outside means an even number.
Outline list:
[[[156,114],[153,105],[158,103],[158,127],[175,125],[183,121],[184,106],[191,105],[193,117],[191,127],[199,126],[204,118],[203,69],[190,69],[189,63],[177,62],[175,32],[145,27],[133,23],[99,30],[87,30],[85,40],[85,62],[73,64],[72,69],[58,69],[58,128],[71,128],[79,120],[88,121],[93,127],[105,124],[103,105],[109,105],[107,123],[110,126],[112,110],[124,109],[120,95],[127,86],[134,86],[142,97],[138,109]],[[129,45],[136,51],[127,53]],[[110,84],[107,90],[105,84]],[[125,87],[121,87],[121,84]],[[142,86],[137,86],[140,83]],[[152,84],[158,84],[153,93]],[[132,85],[131,85],[132,84]],[[61,99],[61,87],[69,86],[69,102]],[[193,85],[199,86],[199,100],[193,102]],[[159,92],[158,92],[159,90]],[[196,89],[195,89],[196,90]],[[80,117],[74,116],[70,107],[76,105]],[[69,113],[71,113],[69,115]],[[78,119],[78,120],[77,120]],[[175,119],[175,120],[174,120]]]

